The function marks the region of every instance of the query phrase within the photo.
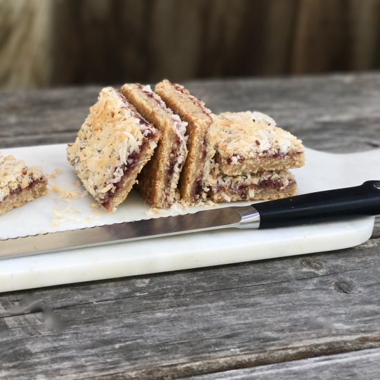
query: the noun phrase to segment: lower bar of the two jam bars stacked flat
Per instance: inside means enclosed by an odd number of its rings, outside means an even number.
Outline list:
[[[287,170],[225,175],[213,169],[209,196],[213,202],[278,199],[296,195],[296,180]]]

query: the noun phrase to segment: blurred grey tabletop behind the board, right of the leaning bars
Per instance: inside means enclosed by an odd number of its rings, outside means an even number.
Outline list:
[[[262,111],[310,148],[350,153],[380,146],[380,91],[374,87],[379,79],[376,74],[241,79],[222,86],[191,82],[189,88],[216,113]]]

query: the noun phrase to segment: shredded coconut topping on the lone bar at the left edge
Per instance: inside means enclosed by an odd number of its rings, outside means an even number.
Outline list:
[[[0,153],[0,202],[12,192],[26,189],[35,180],[46,178],[37,167],[26,167],[25,162],[12,155],[3,157]]]

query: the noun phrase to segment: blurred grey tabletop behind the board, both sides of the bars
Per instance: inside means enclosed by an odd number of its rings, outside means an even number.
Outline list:
[[[215,113],[257,110],[300,137],[335,153],[380,146],[380,75],[189,82]],[[70,142],[98,87],[0,93],[0,148]]]

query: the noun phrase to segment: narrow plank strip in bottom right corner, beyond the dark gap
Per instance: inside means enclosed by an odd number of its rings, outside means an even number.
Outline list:
[[[377,379],[380,373],[380,349],[347,352],[257,368],[205,374],[183,380],[296,380],[296,379]]]

